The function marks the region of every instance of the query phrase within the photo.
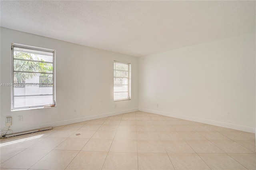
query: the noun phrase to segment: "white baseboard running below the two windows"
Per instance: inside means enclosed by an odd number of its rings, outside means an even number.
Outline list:
[[[47,123],[47,124],[37,125],[37,126],[32,126],[32,127],[16,128],[16,129],[12,129],[12,133],[26,132],[26,131],[30,131],[30,130],[45,128],[45,127],[58,127],[58,126],[63,126],[63,125],[69,125],[72,123],[90,121],[93,119],[100,119],[100,118],[104,118],[104,117],[115,116],[115,115],[120,115],[123,113],[130,113],[130,112],[136,112],[136,111],[139,111],[139,109],[138,108],[128,109],[128,110],[123,110],[123,111],[103,113],[103,114],[87,116],[87,117],[80,117],[80,118],[76,118],[76,119],[70,119],[70,120],[59,121],[59,122],[54,122],[54,123]],[[2,134],[2,132],[1,132],[1,134]]]

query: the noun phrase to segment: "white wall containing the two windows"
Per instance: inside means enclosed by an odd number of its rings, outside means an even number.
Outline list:
[[[1,129],[12,116],[14,132],[66,125],[138,111],[138,57],[1,28],[1,83],[11,82],[11,43],[56,49],[56,108],[10,111],[10,87],[1,87]],[[113,62],[132,63],[132,100],[113,101]],[[104,82],[104,83],[102,83]],[[117,105],[117,108],[114,108]],[[89,111],[88,107],[92,110]],[[103,114],[103,115],[102,115]],[[18,116],[23,121],[18,122]]]

